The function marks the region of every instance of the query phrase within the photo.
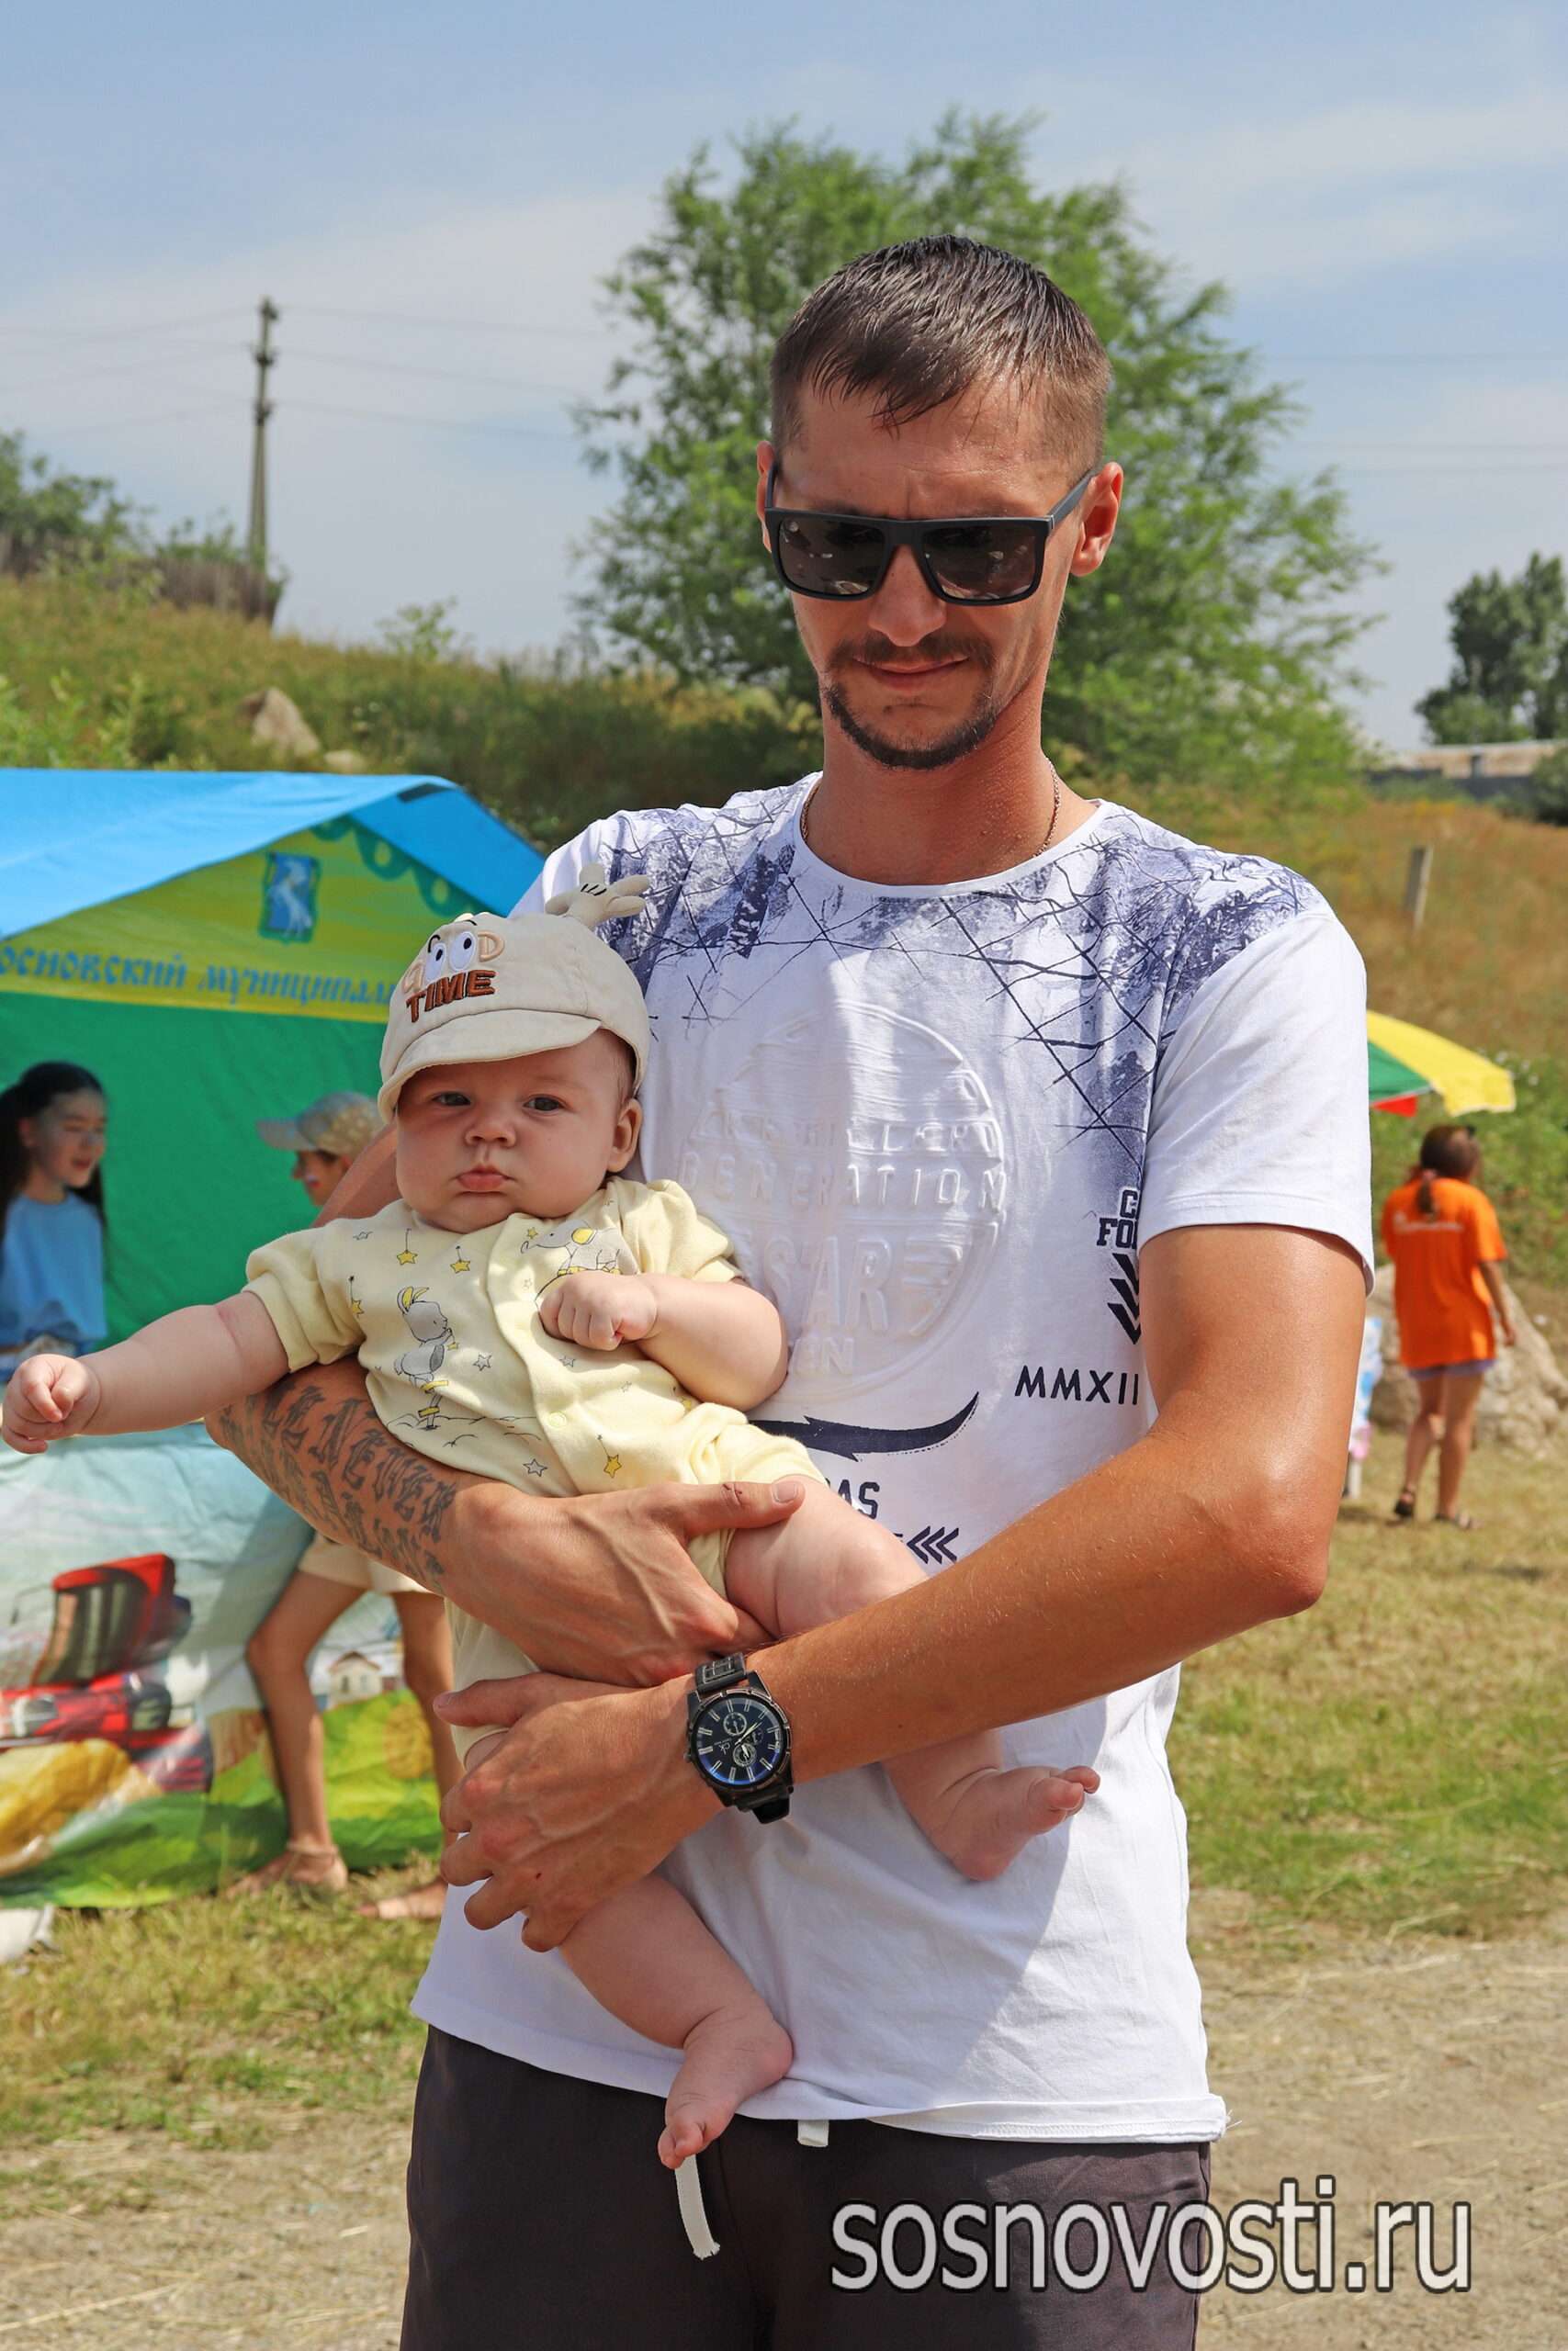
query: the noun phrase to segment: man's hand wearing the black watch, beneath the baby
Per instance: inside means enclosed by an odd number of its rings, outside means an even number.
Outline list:
[[[520,1674],[437,1700],[449,1723],[512,1723],[442,1803],[449,1886],[480,1886],[473,1925],[524,1914],[552,1951],[607,1895],[644,1878],[719,1810],[686,1761],[686,1683],[611,1690]]]

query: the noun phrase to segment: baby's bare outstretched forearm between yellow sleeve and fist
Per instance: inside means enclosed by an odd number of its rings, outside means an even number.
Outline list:
[[[176,1429],[254,1396],[289,1368],[273,1317],[249,1291],[165,1314],[87,1364],[99,1380],[94,1436]]]

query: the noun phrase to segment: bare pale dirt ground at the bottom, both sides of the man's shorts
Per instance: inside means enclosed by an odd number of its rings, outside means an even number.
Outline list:
[[[1234,2123],[1215,2201],[1335,2179],[1345,2262],[1373,2198],[1474,2208],[1469,2295],[1429,2295],[1401,2238],[1392,2295],[1208,2297],[1208,2351],[1563,2351],[1568,2344],[1568,1914],[1507,1942],[1324,1940],[1262,1958],[1244,1904],[1194,1904],[1213,2078]],[[247,2109],[254,2123],[254,2109]],[[393,2351],[404,2118],[261,2118],[266,2151],[134,2132],[7,2149],[0,2351]],[[1312,2255],[1305,2248],[1302,2262]],[[630,2339],[630,2337],[628,2337]]]

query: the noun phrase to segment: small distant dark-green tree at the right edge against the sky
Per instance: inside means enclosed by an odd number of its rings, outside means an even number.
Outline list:
[[[1568,585],[1561,555],[1519,578],[1474,571],[1448,600],[1453,668],[1415,705],[1434,743],[1556,741],[1568,734]]]

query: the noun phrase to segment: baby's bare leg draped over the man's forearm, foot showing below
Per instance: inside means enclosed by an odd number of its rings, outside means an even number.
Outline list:
[[[736,1533],[724,1566],[731,1601],[783,1639],[919,1582],[896,1535],[816,1483],[795,1516]],[[936,1850],[969,1878],[1001,1876],[1032,1836],[1070,1820],[1100,1784],[1081,1763],[1006,1770],[997,1730],[896,1756],[886,1773]]]

